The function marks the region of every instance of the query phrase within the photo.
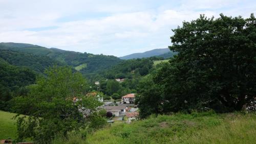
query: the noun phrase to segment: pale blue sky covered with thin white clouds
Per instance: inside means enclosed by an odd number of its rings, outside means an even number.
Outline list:
[[[182,21],[220,13],[249,17],[256,1],[0,0],[0,42],[120,57],[166,48]]]

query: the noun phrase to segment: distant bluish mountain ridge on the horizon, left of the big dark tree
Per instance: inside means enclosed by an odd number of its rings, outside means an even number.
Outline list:
[[[153,57],[153,56],[159,56],[162,54],[166,54],[170,52],[170,57],[172,57],[172,53],[168,48],[166,49],[154,49],[151,51],[146,51],[144,53],[135,53],[135,54],[131,54],[131,55],[127,55],[127,56],[123,56],[123,57],[119,57],[120,59],[137,59],[137,58],[148,58],[148,57]],[[167,55],[166,55],[167,58]]]

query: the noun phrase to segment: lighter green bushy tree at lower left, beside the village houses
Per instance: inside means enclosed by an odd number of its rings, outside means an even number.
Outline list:
[[[73,74],[71,68],[54,66],[45,74],[29,87],[28,95],[13,100],[13,109],[28,115],[17,119],[18,141],[32,138],[36,143],[51,143],[57,134],[66,137],[87,122],[79,108],[93,111],[101,105],[97,97],[84,96],[86,80],[80,73]]]

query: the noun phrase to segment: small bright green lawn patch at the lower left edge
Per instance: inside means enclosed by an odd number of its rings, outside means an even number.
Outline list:
[[[16,137],[16,120],[12,119],[15,113],[0,111],[0,139]]]

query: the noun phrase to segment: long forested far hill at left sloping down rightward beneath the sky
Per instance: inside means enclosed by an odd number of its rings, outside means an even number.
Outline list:
[[[45,69],[45,67],[49,65],[48,63],[57,63],[59,65],[70,65],[75,69],[80,70],[82,74],[88,74],[111,67],[122,61],[115,56],[64,51],[56,48],[48,49],[46,47],[27,43],[2,42],[0,43],[0,50],[2,51],[1,53],[3,53],[0,57],[9,63],[19,66],[30,65],[30,67],[33,67],[33,69],[36,69],[37,71]],[[31,66],[31,63],[33,63],[31,61],[39,63],[39,65],[36,65],[37,68]],[[46,61],[46,63],[42,64],[40,63],[41,61]]]

